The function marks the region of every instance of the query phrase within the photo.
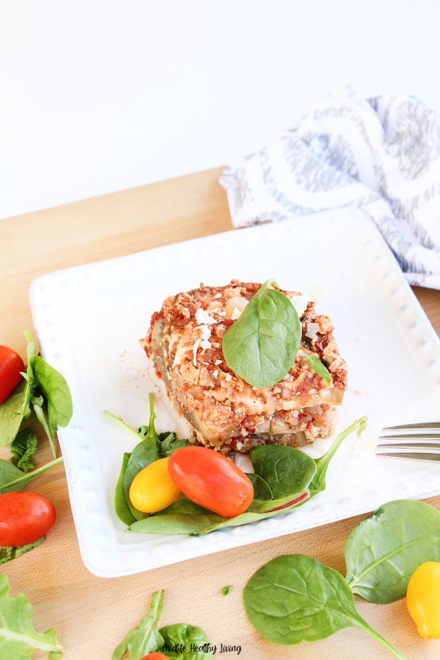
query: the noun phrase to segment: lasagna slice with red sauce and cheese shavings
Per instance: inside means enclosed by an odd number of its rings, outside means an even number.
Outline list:
[[[170,399],[191,424],[195,442],[226,455],[259,444],[301,447],[325,438],[347,386],[332,321],[296,291],[282,291],[302,323],[301,345],[287,376],[260,389],[228,367],[222,337],[260,286],[232,280],[227,286],[200,286],[170,296],[152,315],[141,340]],[[331,383],[312,370],[305,353],[321,360]]]

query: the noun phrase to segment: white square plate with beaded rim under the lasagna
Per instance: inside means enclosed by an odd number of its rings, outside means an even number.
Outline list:
[[[327,490],[298,510],[201,537],[126,533],[113,494],[133,441],[102,411],[137,428],[148,423],[148,392],[155,391],[158,431],[177,424],[185,434],[137,340],[170,294],[233,277],[275,277],[282,288],[305,294],[325,286],[328,298],[318,309],[332,318],[348,364],[338,431],[364,414],[367,431],[344,441]],[[375,457],[383,426],[440,419],[440,341],[361,211],[315,214],[50,273],[32,282],[30,303],[42,354],[73,395],[74,416],[59,440],[82,558],[97,576],[137,573],[440,492],[439,465]],[[325,443],[315,444],[307,451],[317,457]]]

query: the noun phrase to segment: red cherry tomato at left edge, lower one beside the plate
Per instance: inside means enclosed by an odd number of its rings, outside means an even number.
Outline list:
[[[0,495],[0,546],[27,545],[40,539],[55,522],[55,507],[29,490]]]

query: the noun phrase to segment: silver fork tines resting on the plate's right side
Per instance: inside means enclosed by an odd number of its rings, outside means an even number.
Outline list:
[[[440,422],[424,424],[402,424],[402,426],[387,426],[382,432],[390,431],[426,431],[427,433],[402,433],[380,436],[379,440],[388,440],[387,444],[377,445],[379,449],[435,449],[433,453],[420,451],[393,451],[393,453],[377,453],[376,456],[388,458],[404,458],[414,461],[440,461]],[[394,442],[410,440],[411,442]],[[437,440],[437,442],[434,442]]]

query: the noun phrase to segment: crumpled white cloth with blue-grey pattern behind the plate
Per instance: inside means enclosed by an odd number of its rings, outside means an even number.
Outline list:
[[[236,227],[361,208],[408,282],[440,289],[440,116],[412,96],[365,100],[347,86],[220,183]]]

